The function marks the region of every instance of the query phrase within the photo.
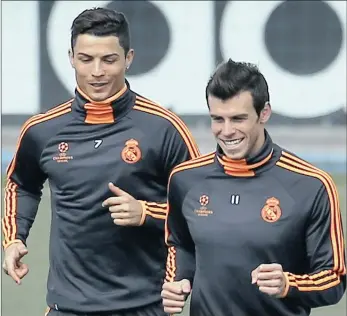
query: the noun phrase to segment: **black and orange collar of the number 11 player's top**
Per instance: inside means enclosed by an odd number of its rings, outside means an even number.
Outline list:
[[[226,174],[235,177],[252,177],[267,170],[272,165],[273,152],[272,139],[265,130],[264,145],[256,155],[246,159],[232,160],[224,155],[220,146],[217,146],[216,157]]]

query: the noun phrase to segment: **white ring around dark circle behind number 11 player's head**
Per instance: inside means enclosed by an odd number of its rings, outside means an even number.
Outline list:
[[[304,118],[326,115],[341,109],[346,104],[345,40],[336,59],[320,72],[298,76],[283,70],[272,60],[264,42],[266,22],[281,2],[228,3],[221,19],[220,43],[223,58],[252,62],[259,66],[269,84],[270,101],[276,113]],[[346,2],[327,3],[339,16],[345,35]]]

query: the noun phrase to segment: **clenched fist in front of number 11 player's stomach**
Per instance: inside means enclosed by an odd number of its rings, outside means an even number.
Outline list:
[[[252,271],[252,284],[255,283],[261,292],[275,297],[283,297],[287,278],[280,264],[261,264]]]

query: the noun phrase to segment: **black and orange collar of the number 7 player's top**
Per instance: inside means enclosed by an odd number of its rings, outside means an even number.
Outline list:
[[[126,81],[124,87],[110,98],[96,102],[77,86],[75,89],[75,110],[89,124],[113,123],[131,109],[132,93]]]

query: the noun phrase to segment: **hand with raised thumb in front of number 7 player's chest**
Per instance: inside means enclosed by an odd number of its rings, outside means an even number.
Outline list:
[[[141,225],[144,211],[141,202],[116,187],[113,183],[109,183],[108,187],[115,196],[105,200],[102,206],[108,207],[113,222],[120,226]]]

